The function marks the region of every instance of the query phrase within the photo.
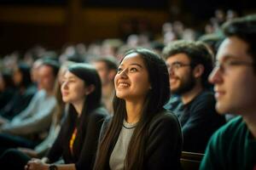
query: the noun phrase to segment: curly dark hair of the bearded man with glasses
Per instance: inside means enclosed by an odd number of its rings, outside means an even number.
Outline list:
[[[179,40],[167,44],[166,48],[163,49],[163,57],[165,59],[175,54],[186,54],[189,57],[192,68],[195,68],[196,65],[203,65],[202,86],[204,88],[211,87],[208,82],[208,76],[213,68],[213,56],[205,43]]]

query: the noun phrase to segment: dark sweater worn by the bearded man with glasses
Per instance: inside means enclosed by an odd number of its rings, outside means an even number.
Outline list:
[[[181,122],[183,131],[183,150],[204,153],[207,142],[218,127],[225,123],[224,116],[215,110],[215,99],[211,91],[202,91],[195,99],[183,105],[166,108],[173,111]]]

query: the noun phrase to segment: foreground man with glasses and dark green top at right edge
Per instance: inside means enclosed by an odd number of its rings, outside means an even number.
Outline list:
[[[224,42],[209,81],[216,109],[237,117],[218,129],[207,145],[201,170],[256,169],[256,15],[226,22]]]

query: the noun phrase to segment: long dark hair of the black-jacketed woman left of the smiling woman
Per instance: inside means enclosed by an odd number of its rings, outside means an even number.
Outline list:
[[[93,92],[88,94],[84,99],[84,106],[82,110],[82,114],[78,117],[78,113],[75,110],[73,105],[68,106],[68,115],[67,115],[67,129],[68,129],[68,136],[70,137],[73,133],[74,127],[77,127],[77,139],[75,142],[79,142],[79,144],[75,145],[82,145],[84,142],[84,133],[83,129],[87,126],[87,117],[89,116],[91,111],[94,111],[101,105],[101,98],[102,98],[102,83],[101,79],[94,67],[88,64],[73,64],[67,68],[67,71],[70,71],[76,77],[79,77],[84,81],[85,86],[93,85],[95,88]],[[68,144],[67,144],[68,145]],[[74,147],[74,156],[79,157],[81,147]]]

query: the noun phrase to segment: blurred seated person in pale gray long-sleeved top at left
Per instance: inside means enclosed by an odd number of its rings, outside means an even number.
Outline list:
[[[59,65],[46,60],[39,68],[38,86],[41,90],[34,95],[26,109],[10,122],[0,127],[0,148],[33,148],[42,139],[40,133],[49,128],[52,113],[56,105],[54,85]]]

